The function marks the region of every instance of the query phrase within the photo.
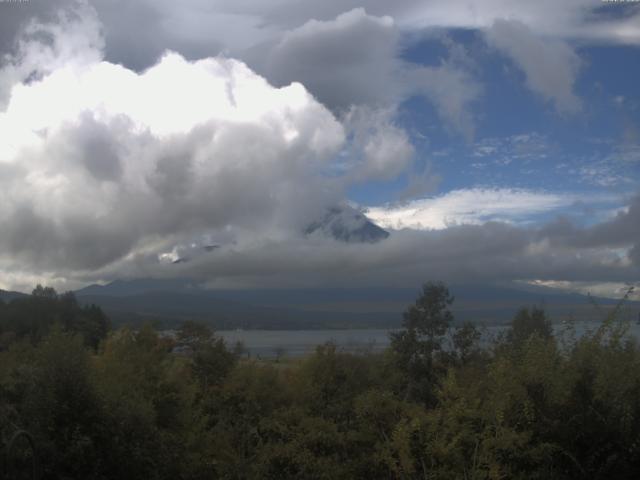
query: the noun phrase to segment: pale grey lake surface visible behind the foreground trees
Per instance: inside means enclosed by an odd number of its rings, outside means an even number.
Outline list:
[[[587,331],[594,331],[599,322],[574,322],[575,336],[579,337]],[[640,338],[640,325],[629,324],[629,333]],[[489,345],[505,326],[480,327],[482,344]],[[353,329],[353,330],[220,330],[216,334],[222,336],[230,347],[240,341],[252,357],[273,358],[278,355],[300,357],[312,353],[318,345],[333,342],[346,352],[381,351],[389,346],[389,329]],[[567,324],[555,324],[557,338],[567,331]]]

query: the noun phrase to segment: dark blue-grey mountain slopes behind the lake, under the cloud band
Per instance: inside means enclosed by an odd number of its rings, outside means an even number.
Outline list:
[[[602,318],[584,295],[514,286],[451,285],[457,321],[507,323],[523,306],[545,308],[554,321]],[[116,323],[160,321],[174,325],[197,319],[217,329],[315,329],[397,327],[402,312],[419,295],[418,288],[316,288],[206,290],[187,279],[128,280],[91,285],[76,291],[83,303],[102,307]],[[602,310],[614,299],[595,298]],[[636,312],[640,302],[628,302]]]

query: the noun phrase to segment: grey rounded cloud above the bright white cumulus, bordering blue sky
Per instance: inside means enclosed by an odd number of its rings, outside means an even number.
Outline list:
[[[400,92],[393,76],[398,32],[391,17],[358,8],[333,20],[309,20],[286,32],[267,56],[268,78],[297,80],[336,109],[352,104],[385,105]]]

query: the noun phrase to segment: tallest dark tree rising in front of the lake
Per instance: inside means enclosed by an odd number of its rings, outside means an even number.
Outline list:
[[[444,336],[453,322],[449,310],[453,300],[443,283],[425,283],[415,304],[403,314],[404,328],[390,334],[391,349],[405,375],[406,397],[427,404],[435,401],[434,387],[438,373],[441,373],[436,357],[442,351]]]

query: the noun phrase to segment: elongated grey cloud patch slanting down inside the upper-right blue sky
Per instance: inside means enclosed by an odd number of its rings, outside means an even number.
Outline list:
[[[580,59],[569,44],[536,36],[517,20],[496,20],[486,37],[522,69],[530,90],[553,102],[560,113],[580,111],[581,101],[573,92]]]

